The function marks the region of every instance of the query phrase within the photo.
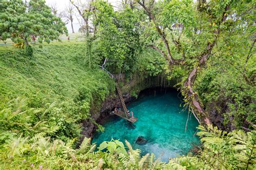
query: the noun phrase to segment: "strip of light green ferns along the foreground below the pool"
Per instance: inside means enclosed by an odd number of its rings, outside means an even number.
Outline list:
[[[75,140],[63,142],[36,135],[24,138],[11,135],[1,149],[1,166],[4,168],[46,169],[55,168],[110,168],[110,169],[254,169],[255,131],[232,131],[230,133],[208,126],[199,126],[198,132],[203,148],[195,156],[172,158],[168,163],[156,159],[153,154],[140,155],[127,141],[126,147],[119,140],[105,141],[95,151],[96,145],[84,138],[79,148]],[[106,149],[106,151],[105,151]]]

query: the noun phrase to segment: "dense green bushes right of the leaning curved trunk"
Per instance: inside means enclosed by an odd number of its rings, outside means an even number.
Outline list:
[[[221,37],[207,69],[199,74],[196,83],[200,99],[208,110],[214,108],[226,118],[226,123],[237,127],[245,120],[256,123],[255,86],[251,74],[255,69],[255,58],[245,63],[251,39],[248,38],[250,33],[242,34],[243,30],[237,29],[232,35]]]

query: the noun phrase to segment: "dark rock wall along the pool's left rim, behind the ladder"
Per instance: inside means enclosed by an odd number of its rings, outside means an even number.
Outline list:
[[[131,101],[136,99],[132,97],[130,93],[123,95],[123,97],[124,97],[125,103],[130,103]],[[114,98],[107,98],[103,102],[101,110],[97,113],[92,113],[92,119],[95,120],[96,123],[98,124],[103,124],[104,119],[111,116],[110,112],[115,107],[121,107],[121,103],[118,96]],[[93,138],[93,132],[95,132],[97,128],[97,126],[90,119],[84,120],[82,124],[83,124],[83,131],[82,131],[83,137],[80,139],[80,142],[83,141],[84,137]]]

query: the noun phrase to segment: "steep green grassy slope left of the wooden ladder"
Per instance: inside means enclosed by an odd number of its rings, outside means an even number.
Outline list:
[[[91,105],[100,106],[113,90],[113,81],[102,70],[87,68],[83,43],[52,43],[33,49],[30,58],[22,50],[0,49],[0,111],[9,108],[0,114],[8,120],[0,130],[17,132],[19,126],[26,135],[77,137],[80,121],[89,117]]]

